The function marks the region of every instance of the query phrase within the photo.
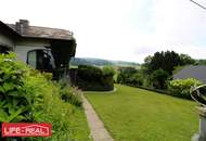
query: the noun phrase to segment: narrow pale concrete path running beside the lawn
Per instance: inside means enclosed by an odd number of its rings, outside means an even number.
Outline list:
[[[88,119],[88,124],[91,130],[91,136],[94,141],[114,141],[113,138],[110,136],[108,131],[104,128],[104,124],[98,117],[95,111],[88,102],[88,100],[82,95],[83,101],[83,108]]]

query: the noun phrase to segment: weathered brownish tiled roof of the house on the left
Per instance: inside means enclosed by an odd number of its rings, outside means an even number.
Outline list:
[[[7,24],[13,30],[17,31],[14,24]],[[18,33],[20,34],[20,33]],[[22,37],[28,38],[46,38],[46,39],[63,39],[72,40],[74,39],[73,33],[65,29],[39,27],[39,26],[28,26],[21,33]]]

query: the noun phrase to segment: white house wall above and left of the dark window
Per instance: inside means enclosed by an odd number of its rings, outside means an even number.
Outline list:
[[[49,47],[50,43],[48,40],[22,40],[16,42],[14,52],[17,54],[17,59],[22,60],[23,62],[26,63],[27,61],[27,53],[31,50],[37,50],[37,49],[46,49],[46,47]]]

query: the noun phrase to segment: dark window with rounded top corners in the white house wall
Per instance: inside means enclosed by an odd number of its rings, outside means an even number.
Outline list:
[[[36,69],[52,72],[55,68],[53,55],[48,49],[31,50],[27,53],[27,64]]]

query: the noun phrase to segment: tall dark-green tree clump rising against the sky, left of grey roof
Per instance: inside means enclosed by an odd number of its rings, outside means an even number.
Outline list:
[[[154,53],[153,56],[149,55],[141,67],[142,75],[146,78],[143,86],[166,89],[166,84],[171,79],[175,69],[194,63],[195,60],[188,54],[178,54],[173,51],[162,51]]]

